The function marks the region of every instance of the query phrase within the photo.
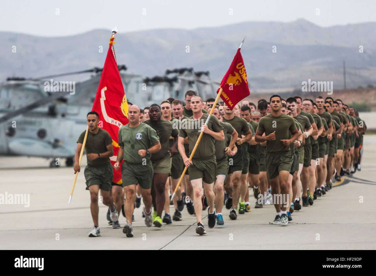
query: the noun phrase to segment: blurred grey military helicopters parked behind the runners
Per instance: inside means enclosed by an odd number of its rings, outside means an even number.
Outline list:
[[[60,158],[66,158],[66,166],[73,166],[77,137],[86,128],[86,114],[92,109],[102,69],[8,78],[0,83],[0,155],[52,158],[50,167],[58,167]],[[183,101],[187,90],[196,90],[203,98],[215,95],[209,72],[180,68],[167,70],[163,77],[143,78],[124,72],[125,65],[118,69],[127,99],[141,108],[169,97]],[[88,78],[75,83],[74,94],[46,89],[55,83],[51,78],[88,73]]]

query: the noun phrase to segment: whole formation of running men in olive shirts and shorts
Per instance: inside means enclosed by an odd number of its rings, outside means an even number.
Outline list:
[[[244,100],[231,110],[223,102],[214,106],[214,98],[204,102],[189,90],[185,106],[173,98],[144,109],[128,103],[129,124],[119,129],[113,167],[111,136],[98,127],[98,114],[89,112],[84,172],[94,222],[89,237],[100,236],[99,190],[108,206],[109,225],[120,228],[120,212],[126,217],[123,233],[127,237],[133,237],[133,211],[141,206],[141,198],[146,226],[182,220],[186,206],[190,215],[196,215],[196,233],[203,235],[206,208],[209,228],[224,225],[223,205],[232,220],[251,211],[249,187],[257,199],[255,208],[273,204],[273,224],[285,226],[292,220],[291,213],[313,205],[332,189],[333,176],[341,181],[341,176],[361,169],[367,127],[353,107],[321,96],[313,101],[273,95],[269,100],[261,99],[257,105]],[[85,131],[77,140],[75,173],[80,171],[84,137]],[[170,202],[169,194],[185,166],[182,184]],[[121,169],[120,184],[112,181],[113,168]]]

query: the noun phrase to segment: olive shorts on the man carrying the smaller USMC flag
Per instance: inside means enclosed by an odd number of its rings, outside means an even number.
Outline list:
[[[189,179],[202,178],[205,183],[211,184],[215,180],[215,173],[217,172],[217,160],[215,155],[211,155],[208,158],[192,158],[192,163],[189,167]]]

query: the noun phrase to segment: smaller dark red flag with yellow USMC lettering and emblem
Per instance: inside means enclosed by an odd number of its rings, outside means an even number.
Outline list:
[[[224,75],[220,87],[223,90],[220,97],[231,110],[238,102],[249,96],[247,72],[240,48],[235,54],[226,75]],[[217,90],[217,94],[219,91],[220,88]]]

